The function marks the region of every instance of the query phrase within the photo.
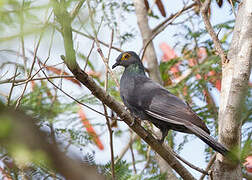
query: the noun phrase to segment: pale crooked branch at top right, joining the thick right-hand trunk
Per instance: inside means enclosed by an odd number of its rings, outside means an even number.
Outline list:
[[[221,46],[221,43],[220,43],[216,33],[214,32],[214,29],[210,23],[209,18],[208,18],[208,8],[210,6],[211,0],[205,0],[205,2],[203,4],[201,4],[201,2],[199,0],[198,0],[198,2],[201,5],[201,15],[202,15],[206,30],[208,31],[211,38],[213,39],[215,50],[217,51],[218,55],[221,57],[222,63],[228,63],[229,60],[227,58],[227,55],[225,54],[225,52]]]

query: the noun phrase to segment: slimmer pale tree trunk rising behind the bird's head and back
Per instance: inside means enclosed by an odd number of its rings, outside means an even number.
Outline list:
[[[134,0],[134,6],[136,11],[137,23],[143,38],[143,47],[147,44],[148,39],[152,36],[151,29],[148,25],[147,9],[145,8],[143,0]],[[159,84],[162,84],[162,79],[159,72],[159,66],[157,62],[157,56],[153,43],[151,42],[146,49],[145,58],[148,63],[148,70],[150,78]],[[154,127],[155,134],[161,134],[160,131]],[[160,168],[161,173],[166,173],[166,179],[177,180],[172,168],[169,164],[156,153],[156,161]]]

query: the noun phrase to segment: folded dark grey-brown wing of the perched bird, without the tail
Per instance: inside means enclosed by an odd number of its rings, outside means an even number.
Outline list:
[[[175,125],[187,126],[192,123],[209,133],[205,123],[184,101],[152,80],[140,78],[135,93],[139,107],[149,116]]]

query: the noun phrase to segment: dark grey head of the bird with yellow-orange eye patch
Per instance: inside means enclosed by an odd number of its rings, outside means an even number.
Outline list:
[[[112,69],[114,69],[116,66],[123,66],[126,68],[131,64],[141,64],[141,60],[135,52],[126,51],[121,53],[116,58],[116,63],[112,66]]]

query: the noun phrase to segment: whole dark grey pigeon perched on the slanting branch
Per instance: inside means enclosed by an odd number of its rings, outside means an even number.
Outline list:
[[[134,51],[121,53],[115,64],[123,66],[120,96],[134,119],[148,120],[162,133],[158,141],[163,144],[169,130],[194,134],[223,156],[229,150],[210,136],[204,121],[188,103],[170,93],[145,74],[144,66]]]

